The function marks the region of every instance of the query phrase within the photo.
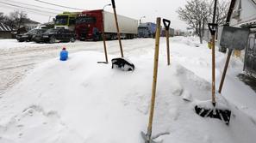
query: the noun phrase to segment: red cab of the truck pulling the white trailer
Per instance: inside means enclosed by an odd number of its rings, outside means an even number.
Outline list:
[[[77,39],[99,40],[103,32],[103,9],[83,11],[78,15],[75,31]]]

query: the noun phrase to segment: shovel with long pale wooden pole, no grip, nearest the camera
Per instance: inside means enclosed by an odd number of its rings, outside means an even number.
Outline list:
[[[142,139],[145,140],[145,143],[156,143],[156,141],[154,141],[154,139],[158,138],[160,135],[169,134],[169,133],[162,133],[162,134],[158,134],[158,135],[152,137],[153,110],[154,110],[154,103],[155,103],[158,64],[159,64],[158,62],[159,62],[160,24],[161,24],[161,18],[158,17],[157,18],[157,31],[156,31],[156,35],[155,35],[152,97],[151,97],[149,121],[148,121],[148,126],[147,126],[147,134],[145,134],[144,132],[141,132]]]

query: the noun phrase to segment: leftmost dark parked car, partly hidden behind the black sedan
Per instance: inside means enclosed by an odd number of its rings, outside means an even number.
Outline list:
[[[47,31],[47,29],[33,29],[33,30],[28,31],[28,33],[17,34],[16,39],[19,42],[24,42],[24,41],[29,42],[32,40],[34,35],[45,33],[46,31]]]

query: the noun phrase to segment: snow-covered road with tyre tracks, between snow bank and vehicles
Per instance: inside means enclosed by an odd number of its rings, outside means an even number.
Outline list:
[[[124,52],[128,56],[131,52],[138,54],[138,43],[141,40],[142,47],[153,47],[152,39],[133,39],[123,40]],[[42,63],[54,57],[59,57],[59,51],[62,47],[66,47],[69,53],[78,51],[100,51],[103,52],[103,42],[80,42],[75,43],[59,43],[59,44],[36,44],[33,42],[17,42],[16,39],[0,40],[0,95],[4,91],[14,86],[18,81],[28,73],[29,69],[33,69],[37,63]],[[109,54],[118,54],[120,51],[116,49],[117,41],[107,41]],[[141,44],[140,44],[141,47]],[[139,51],[143,51],[140,48]],[[147,50],[145,50],[147,52]],[[104,60],[104,57],[103,57]]]

